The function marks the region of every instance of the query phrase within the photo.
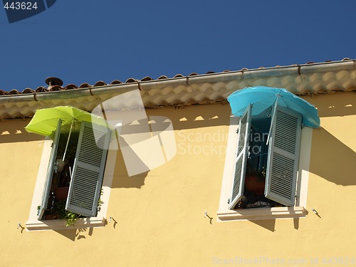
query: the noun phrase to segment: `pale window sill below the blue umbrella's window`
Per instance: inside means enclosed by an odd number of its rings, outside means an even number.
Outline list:
[[[234,209],[217,211],[218,221],[269,220],[305,217],[303,206],[283,206],[276,208]]]

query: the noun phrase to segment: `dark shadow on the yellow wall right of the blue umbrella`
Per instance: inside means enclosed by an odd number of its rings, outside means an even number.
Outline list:
[[[309,171],[335,184],[355,185],[356,152],[332,135],[326,125],[323,127],[323,117],[340,117],[342,120],[343,116],[356,115],[356,92],[316,95],[304,99],[318,108],[322,119],[321,127],[313,130]],[[340,123],[337,132],[342,135],[347,133],[347,136],[354,138],[356,122],[353,121],[351,125]]]

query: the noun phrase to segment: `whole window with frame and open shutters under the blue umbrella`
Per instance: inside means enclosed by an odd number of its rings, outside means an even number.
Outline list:
[[[229,135],[218,220],[304,216],[311,130],[302,131],[301,116],[290,110],[252,110]]]

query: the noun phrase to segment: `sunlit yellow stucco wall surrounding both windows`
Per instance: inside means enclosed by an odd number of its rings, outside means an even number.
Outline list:
[[[177,155],[167,164],[127,177],[117,152],[108,206],[117,224],[21,231],[43,138],[25,132],[29,120],[1,121],[0,266],[325,266],[331,257],[355,265],[356,94],[305,99],[322,127],[313,130],[302,219],[216,221],[230,108],[197,105],[147,110],[173,122]]]

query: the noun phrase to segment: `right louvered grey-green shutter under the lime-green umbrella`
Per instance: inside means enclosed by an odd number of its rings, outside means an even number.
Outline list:
[[[82,122],[66,203],[68,211],[96,216],[109,141],[108,128]]]

